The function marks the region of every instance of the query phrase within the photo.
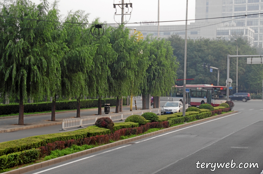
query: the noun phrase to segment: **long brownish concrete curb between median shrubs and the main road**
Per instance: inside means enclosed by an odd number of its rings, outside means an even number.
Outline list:
[[[106,144],[106,145],[103,145],[103,146],[94,147],[92,149],[84,150],[84,151],[81,151],[81,152],[76,152],[74,154],[69,154],[69,155],[65,155],[65,156],[62,156],[62,157],[55,158],[55,159],[50,159],[48,161],[43,161],[41,163],[36,163],[36,164],[32,164],[32,165],[29,165],[29,166],[26,166],[26,167],[21,167],[21,168],[15,169],[15,170],[4,172],[2,174],[20,174],[20,173],[29,172],[29,171],[36,170],[36,169],[39,169],[39,168],[42,168],[42,167],[47,167],[47,166],[50,166],[50,165],[53,165],[53,164],[56,164],[56,163],[60,163],[60,162],[63,162],[63,161],[69,160],[69,159],[74,159],[74,158],[77,158],[77,157],[80,157],[80,156],[91,154],[93,152],[97,152],[97,151],[100,151],[100,150],[105,150],[105,149],[108,149],[108,148],[111,148],[111,147],[114,147],[114,146],[119,146],[119,145],[126,144],[126,143],[129,143],[129,142],[132,142],[132,141],[136,141],[136,140],[147,138],[147,137],[150,137],[150,136],[153,136],[153,135],[157,135],[157,134],[160,134],[160,133],[165,133],[165,132],[168,132],[168,131],[171,131],[171,130],[174,130],[174,129],[178,129],[178,128],[182,128],[182,127],[186,127],[186,126],[191,126],[191,125],[196,124],[196,123],[204,122],[204,121],[207,121],[207,120],[213,120],[215,118],[223,117],[223,116],[226,116],[226,115],[231,115],[231,114],[234,114],[234,113],[237,113],[237,112],[238,111],[233,111],[233,112],[226,113],[226,114],[216,115],[216,116],[213,116],[213,117],[209,117],[209,118],[205,118],[205,119],[202,119],[202,120],[193,121],[193,122],[186,123],[186,124],[181,124],[181,125],[174,126],[174,127],[171,127],[171,128],[162,129],[162,130],[159,130],[159,131],[156,131],[156,132],[147,133],[147,134],[140,135],[140,136],[133,137],[133,138],[129,138],[129,139],[126,139],[126,140],[116,141],[114,143],[110,143],[110,144]]]

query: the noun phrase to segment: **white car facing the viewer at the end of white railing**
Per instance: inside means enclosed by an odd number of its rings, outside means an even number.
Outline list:
[[[185,105],[185,109],[188,108],[188,104]],[[169,115],[177,112],[183,112],[183,103],[182,102],[166,102],[162,106],[161,115]]]

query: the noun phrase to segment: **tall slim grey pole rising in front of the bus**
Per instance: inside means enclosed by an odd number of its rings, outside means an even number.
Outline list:
[[[186,53],[187,53],[187,12],[188,0],[186,0],[186,20],[185,20],[185,45],[184,45],[184,73],[183,73],[183,116],[185,116],[185,102],[186,102]]]

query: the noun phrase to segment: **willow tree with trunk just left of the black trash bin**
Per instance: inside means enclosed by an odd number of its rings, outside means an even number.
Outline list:
[[[97,23],[98,19],[92,23]],[[110,31],[106,27],[105,34],[98,41],[91,41],[96,46],[96,53],[93,57],[93,64],[88,73],[88,91],[92,97],[98,97],[98,115],[101,115],[101,98],[108,94],[109,85],[107,82],[110,76],[109,64],[116,58],[117,54],[110,44]],[[90,36],[92,37],[92,36]]]

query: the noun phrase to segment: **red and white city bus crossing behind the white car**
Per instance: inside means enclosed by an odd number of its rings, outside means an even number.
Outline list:
[[[226,102],[226,86],[186,85],[186,88],[190,89],[186,93],[186,103],[191,106],[208,103],[216,107]],[[183,102],[183,86],[174,86],[171,100]]]

